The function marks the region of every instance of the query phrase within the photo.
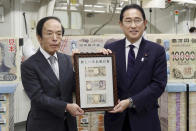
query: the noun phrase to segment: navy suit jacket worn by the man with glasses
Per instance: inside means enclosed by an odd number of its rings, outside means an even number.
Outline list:
[[[123,100],[131,97],[136,106],[123,113],[106,112],[106,131],[121,131],[127,114],[131,131],[160,131],[157,99],[167,83],[164,48],[142,38],[131,78],[126,76],[125,39],[106,45],[105,48],[115,53],[119,98]]]

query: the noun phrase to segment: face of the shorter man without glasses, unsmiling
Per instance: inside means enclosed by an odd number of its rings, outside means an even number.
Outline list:
[[[56,51],[59,50],[61,44],[61,24],[55,19],[46,21],[43,25],[42,37],[37,36],[37,38],[41,47],[50,55],[53,55]]]

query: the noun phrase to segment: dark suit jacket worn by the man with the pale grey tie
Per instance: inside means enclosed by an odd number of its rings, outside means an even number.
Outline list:
[[[71,58],[61,53],[57,56],[60,80],[40,50],[21,65],[22,83],[31,99],[27,131],[65,131],[64,119],[69,131],[77,130],[75,118],[65,113],[74,89]]]

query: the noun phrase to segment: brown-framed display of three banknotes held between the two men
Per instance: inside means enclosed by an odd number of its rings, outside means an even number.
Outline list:
[[[111,110],[118,100],[114,54],[77,53],[76,103],[84,111]]]

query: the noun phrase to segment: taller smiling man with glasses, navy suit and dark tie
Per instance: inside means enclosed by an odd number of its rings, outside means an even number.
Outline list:
[[[119,96],[105,113],[105,131],[161,131],[157,99],[167,83],[164,48],[142,37],[147,20],[139,5],[125,6],[119,23],[126,38],[105,46],[116,56]]]

